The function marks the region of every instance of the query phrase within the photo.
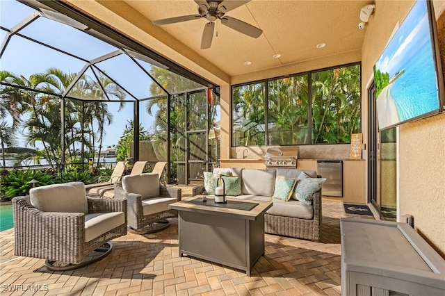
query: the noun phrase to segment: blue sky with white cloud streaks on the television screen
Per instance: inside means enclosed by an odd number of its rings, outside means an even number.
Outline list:
[[[375,67],[389,73],[390,77],[394,76],[430,38],[426,1],[419,0],[391,38]]]

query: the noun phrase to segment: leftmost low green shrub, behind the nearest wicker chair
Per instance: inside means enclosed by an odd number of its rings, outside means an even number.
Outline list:
[[[38,181],[35,187],[54,184],[54,181],[57,181],[53,174],[38,170],[9,170],[8,174],[1,178],[1,195],[6,199],[29,195],[29,190],[33,188],[33,183],[29,183],[32,179]]]

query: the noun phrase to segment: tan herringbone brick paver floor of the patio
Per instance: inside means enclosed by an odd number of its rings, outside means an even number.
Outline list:
[[[341,202],[323,199],[321,242],[265,235],[265,256],[245,272],[178,256],[177,219],[150,235],[113,240],[102,261],[51,272],[44,260],[14,255],[13,229],[1,232],[3,295],[340,295]]]

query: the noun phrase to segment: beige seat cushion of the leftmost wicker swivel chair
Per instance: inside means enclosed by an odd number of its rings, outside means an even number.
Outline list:
[[[85,215],[85,242],[94,240],[124,223],[123,212],[87,214]]]

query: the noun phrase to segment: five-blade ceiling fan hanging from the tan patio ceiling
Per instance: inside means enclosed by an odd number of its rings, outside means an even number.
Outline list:
[[[161,26],[165,24],[174,24],[178,22],[191,21],[193,19],[200,19],[202,17],[206,18],[209,23],[204,26],[204,32],[202,33],[201,49],[208,49],[211,45],[211,40],[213,39],[213,31],[215,29],[216,19],[221,20],[221,24],[228,26],[240,33],[248,35],[253,38],[259,38],[263,31],[251,24],[243,22],[234,17],[227,17],[225,14],[230,10],[234,10],[250,0],[194,0],[197,3],[198,15],[183,15],[181,17],[170,17],[168,19],[159,19],[153,21],[156,26]]]

